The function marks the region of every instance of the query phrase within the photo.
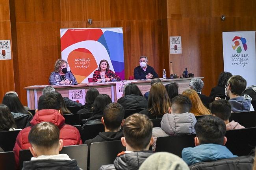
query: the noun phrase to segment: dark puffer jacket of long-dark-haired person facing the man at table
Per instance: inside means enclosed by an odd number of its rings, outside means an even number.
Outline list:
[[[117,102],[124,107],[124,110],[148,108],[147,99],[140,95],[126,95],[118,99]]]

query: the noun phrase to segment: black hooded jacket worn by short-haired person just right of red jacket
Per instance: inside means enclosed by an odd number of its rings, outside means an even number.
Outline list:
[[[93,142],[106,142],[106,141],[117,141],[121,140],[124,134],[122,131],[119,132],[100,132],[95,138],[86,140],[84,144],[87,144],[88,147],[91,146]]]

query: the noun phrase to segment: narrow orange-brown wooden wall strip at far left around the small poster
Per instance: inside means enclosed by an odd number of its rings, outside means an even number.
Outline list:
[[[11,40],[9,0],[0,1],[0,40]],[[4,94],[7,91],[13,90],[15,90],[13,76],[13,59],[0,60],[0,103],[2,102]]]

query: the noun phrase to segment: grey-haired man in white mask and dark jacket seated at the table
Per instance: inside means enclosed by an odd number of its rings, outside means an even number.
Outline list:
[[[148,65],[148,57],[139,57],[139,66],[134,69],[134,79],[154,79],[158,74],[153,67]]]

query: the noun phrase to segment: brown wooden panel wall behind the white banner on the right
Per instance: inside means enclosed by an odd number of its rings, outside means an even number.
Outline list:
[[[167,0],[168,35],[182,36],[182,54],[169,54],[174,73],[187,67],[205,77],[202,93],[209,95],[224,70],[222,32],[255,30],[255,5],[254,0]]]

